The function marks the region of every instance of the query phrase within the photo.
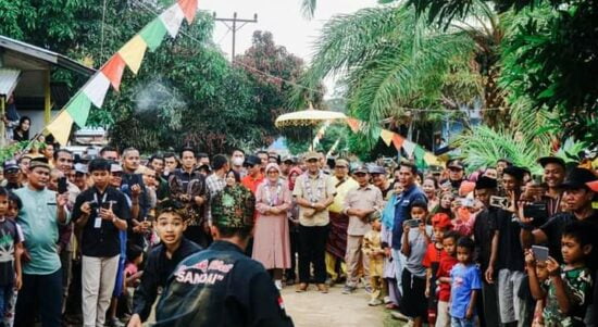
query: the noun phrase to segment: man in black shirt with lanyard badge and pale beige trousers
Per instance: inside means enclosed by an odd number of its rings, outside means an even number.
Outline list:
[[[75,201],[73,221],[83,229],[82,285],[84,326],[103,326],[121,253],[120,230],[127,229],[129,207],[125,196],[109,186],[110,163],[89,163],[94,187]]]

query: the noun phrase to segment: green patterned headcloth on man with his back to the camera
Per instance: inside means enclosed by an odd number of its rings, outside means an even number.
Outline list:
[[[219,227],[253,226],[256,197],[242,186],[226,187],[212,201],[212,223]]]

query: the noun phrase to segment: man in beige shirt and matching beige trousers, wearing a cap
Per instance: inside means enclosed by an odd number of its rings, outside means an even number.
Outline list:
[[[367,168],[358,167],[353,176],[359,184],[359,188],[350,190],[345,198],[342,211],[349,216],[349,227],[347,229],[347,284],[342,293],[353,292],[358,284],[358,272],[360,264],[363,266],[365,280],[369,280],[369,265],[362,254],[361,246],[363,236],[372,229],[370,217],[379,212],[383,207],[383,198],[381,190],[370,184],[370,174]]]

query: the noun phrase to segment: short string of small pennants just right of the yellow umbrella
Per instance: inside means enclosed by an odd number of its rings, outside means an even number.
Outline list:
[[[347,118],[347,125],[349,125],[349,128],[353,133],[359,133],[363,128],[364,123],[356,118]],[[426,151],[422,146],[406,139],[395,131],[377,127],[374,135],[378,135],[387,147],[393,144],[397,151],[403,149],[409,158],[414,159],[418,166],[441,165],[440,160],[434,153]]]

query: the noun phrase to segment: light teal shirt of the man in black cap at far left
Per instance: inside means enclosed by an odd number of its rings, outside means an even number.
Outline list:
[[[25,248],[32,260],[23,265],[28,275],[50,275],[60,269],[57,253],[59,222],[57,216],[57,192],[48,189],[32,190],[25,186],[14,191],[23,202],[17,222],[23,228]],[[68,216],[66,223],[68,223]]]

